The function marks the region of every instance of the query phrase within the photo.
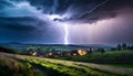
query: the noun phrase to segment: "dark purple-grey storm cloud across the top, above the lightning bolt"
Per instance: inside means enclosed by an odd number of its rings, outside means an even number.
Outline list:
[[[122,9],[133,10],[133,0],[29,0],[31,4],[49,14],[70,13],[70,18],[54,21],[79,21],[92,23],[99,20],[115,18]]]

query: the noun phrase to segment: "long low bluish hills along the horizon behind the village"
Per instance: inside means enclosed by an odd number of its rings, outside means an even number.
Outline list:
[[[22,43],[18,43],[18,42],[10,42],[10,43],[0,43],[1,46],[3,47],[9,47],[9,48],[13,48],[17,51],[23,51],[29,46],[34,46],[34,47],[43,47],[45,50],[48,48],[55,48],[58,51],[70,51],[70,50],[78,50],[78,48],[89,48],[89,47],[93,47],[93,48],[111,48],[111,46],[109,45],[103,45],[103,44],[22,44]]]

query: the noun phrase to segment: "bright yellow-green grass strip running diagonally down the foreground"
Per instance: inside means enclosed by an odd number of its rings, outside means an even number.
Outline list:
[[[115,74],[102,72],[94,68],[92,69],[85,66],[55,63],[52,61],[44,61],[39,58],[28,58],[27,62],[50,70],[52,76],[116,76]]]

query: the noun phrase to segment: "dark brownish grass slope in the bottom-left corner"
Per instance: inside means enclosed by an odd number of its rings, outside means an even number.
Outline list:
[[[35,72],[28,63],[14,59],[10,54],[0,53],[0,76],[44,76]]]

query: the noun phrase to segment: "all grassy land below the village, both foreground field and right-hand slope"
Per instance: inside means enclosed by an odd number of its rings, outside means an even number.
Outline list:
[[[45,58],[0,48],[1,76],[133,76],[133,51]]]

